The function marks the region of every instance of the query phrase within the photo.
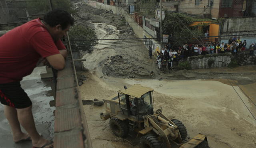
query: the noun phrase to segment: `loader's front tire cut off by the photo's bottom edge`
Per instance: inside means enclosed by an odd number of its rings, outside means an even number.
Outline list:
[[[147,134],[140,138],[140,148],[161,148],[161,142],[157,136],[153,134]]]

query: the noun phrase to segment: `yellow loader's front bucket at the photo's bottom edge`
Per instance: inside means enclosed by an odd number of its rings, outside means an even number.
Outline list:
[[[180,146],[180,148],[210,148],[206,135],[197,134],[194,138]]]

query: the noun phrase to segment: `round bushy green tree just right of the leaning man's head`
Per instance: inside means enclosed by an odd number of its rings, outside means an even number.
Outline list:
[[[70,31],[68,33],[70,38],[70,44],[73,51],[88,51],[88,53],[91,53],[93,51],[93,45],[96,45],[97,42],[97,36],[94,32],[94,30],[81,26],[76,25],[70,28]]]

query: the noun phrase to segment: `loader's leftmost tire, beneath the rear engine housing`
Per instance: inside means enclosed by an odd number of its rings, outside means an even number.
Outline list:
[[[121,121],[118,118],[111,118],[109,121],[112,132],[118,136],[125,138],[128,134],[128,124],[125,121]]]

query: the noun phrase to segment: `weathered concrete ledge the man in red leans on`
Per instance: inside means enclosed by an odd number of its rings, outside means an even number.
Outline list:
[[[69,55],[66,67],[57,74],[54,148],[91,148],[72,62],[72,55]]]

